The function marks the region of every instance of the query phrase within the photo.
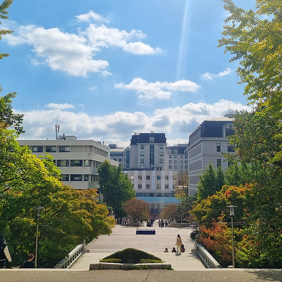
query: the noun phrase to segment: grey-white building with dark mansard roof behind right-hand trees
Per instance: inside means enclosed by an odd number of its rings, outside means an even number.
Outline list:
[[[228,135],[234,134],[231,114],[224,117],[203,121],[189,136],[188,175],[189,195],[197,192],[199,176],[208,167],[227,169],[228,162],[222,153],[234,153],[234,146],[229,144]]]

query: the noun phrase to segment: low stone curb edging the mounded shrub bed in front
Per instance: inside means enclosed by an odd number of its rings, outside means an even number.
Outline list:
[[[166,267],[171,268],[171,264],[168,264],[168,263],[110,263],[110,262],[99,262],[99,263],[91,263],[89,265],[89,270],[128,269],[133,265],[149,266],[150,269],[164,269]]]

